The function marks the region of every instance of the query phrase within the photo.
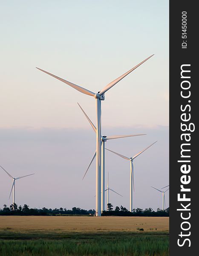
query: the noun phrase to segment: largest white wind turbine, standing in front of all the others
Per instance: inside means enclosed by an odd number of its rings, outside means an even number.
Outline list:
[[[154,55],[154,54],[153,54]],[[101,216],[101,101],[105,99],[104,93],[107,92],[111,87],[113,87],[115,84],[117,84],[121,79],[123,79],[125,76],[127,76],[129,73],[131,73],[133,70],[135,70],[137,67],[139,67],[141,64],[143,64],[145,61],[147,61],[149,58],[151,58],[153,55],[146,58],[144,61],[141,61],[138,65],[124,73],[123,75],[119,76],[117,79],[113,80],[109,84],[107,84],[101,91],[98,91],[97,93],[93,93],[90,90],[87,90],[77,84],[73,84],[69,81],[66,81],[58,76],[55,76],[45,70],[42,70],[38,67],[36,67],[38,70],[53,76],[54,78],[62,81],[65,84],[68,84],[69,86],[73,87],[75,90],[78,90],[81,93],[87,94],[89,96],[93,96],[95,98],[95,105],[96,105],[96,216]]]

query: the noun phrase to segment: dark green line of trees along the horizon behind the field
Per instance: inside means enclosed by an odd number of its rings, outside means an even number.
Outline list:
[[[42,209],[29,208],[27,204],[24,206],[17,206],[17,204],[11,204],[10,207],[7,207],[6,204],[3,205],[3,209],[0,209],[0,215],[95,215],[95,210],[84,210],[79,207],[73,207],[72,209],[66,208],[55,208],[47,209],[43,207]],[[146,216],[146,217],[168,217],[169,208],[162,210],[157,209],[154,211],[152,208],[147,208],[145,210],[141,208],[133,209],[133,212],[130,212],[127,208],[116,206],[113,210],[112,204],[107,204],[107,211],[103,211],[102,216]]]

